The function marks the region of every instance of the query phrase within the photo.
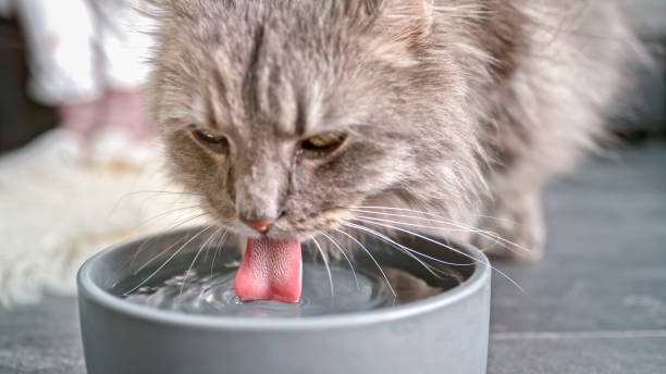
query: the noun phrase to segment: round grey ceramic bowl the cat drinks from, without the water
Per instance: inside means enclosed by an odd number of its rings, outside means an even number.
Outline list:
[[[153,237],[141,255],[183,235]],[[402,239],[442,260],[469,262],[429,241]],[[181,314],[112,295],[144,240],[102,251],[78,273],[88,374],[485,373],[491,272],[468,245],[449,241],[482,263],[464,266],[465,280],[448,291],[373,311],[272,319]],[[184,254],[198,248],[194,240]],[[375,253],[380,263],[394,261],[386,253]]]

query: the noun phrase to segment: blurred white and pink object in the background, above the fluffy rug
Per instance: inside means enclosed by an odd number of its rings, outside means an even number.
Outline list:
[[[29,91],[58,108],[61,128],[82,146],[108,130],[134,141],[149,138],[141,86],[152,26],[137,11],[145,3],[5,0],[2,8],[15,12],[24,28]]]

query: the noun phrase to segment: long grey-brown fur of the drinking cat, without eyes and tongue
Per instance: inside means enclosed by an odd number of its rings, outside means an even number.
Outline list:
[[[538,255],[542,185],[593,146],[640,51],[612,1],[153,2],[152,112],[173,175],[242,235],[257,234],[238,216],[304,237],[379,204]],[[304,158],[299,141],[329,130],[344,147]]]

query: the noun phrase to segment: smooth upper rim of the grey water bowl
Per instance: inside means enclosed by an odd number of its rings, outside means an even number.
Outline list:
[[[412,301],[395,307],[381,308],[370,311],[359,311],[344,314],[330,314],[320,316],[308,316],[303,319],[293,317],[243,317],[243,316],[218,316],[205,314],[185,314],[174,311],[159,310],[147,306],[140,306],[124,301],[123,299],[109,294],[92,280],[91,271],[104,257],[109,253],[121,250],[130,246],[136,246],[140,241],[156,236],[177,235],[185,233],[187,229],[178,229],[160,234],[147,235],[136,239],[123,241],[113,245],[88,260],[79,267],[76,280],[78,288],[79,313],[84,314],[82,299],[87,299],[90,302],[97,303],[99,307],[113,311],[121,315],[131,316],[147,322],[177,325],[181,327],[206,328],[206,329],[224,329],[224,331],[275,331],[275,332],[295,332],[295,331],[318,331],[329,328],[353,327],[361,325],[378,324],[391,322],[419,314],[425,314],[437,309],[443,309],[471,297],[488,286],[490,288],[491,264],[485,254],[476,247],[446,238],[453,242],[456,248],[462,249],[470,255],[474,255],[480,261],[477,261],[474,271],[468,279],[460,285],[446,290],[442,294]]]

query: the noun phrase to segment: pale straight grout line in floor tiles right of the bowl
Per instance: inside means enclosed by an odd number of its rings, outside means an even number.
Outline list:
[[[666,338],[666,329],[491,333],[491,340],[633,339]]]

